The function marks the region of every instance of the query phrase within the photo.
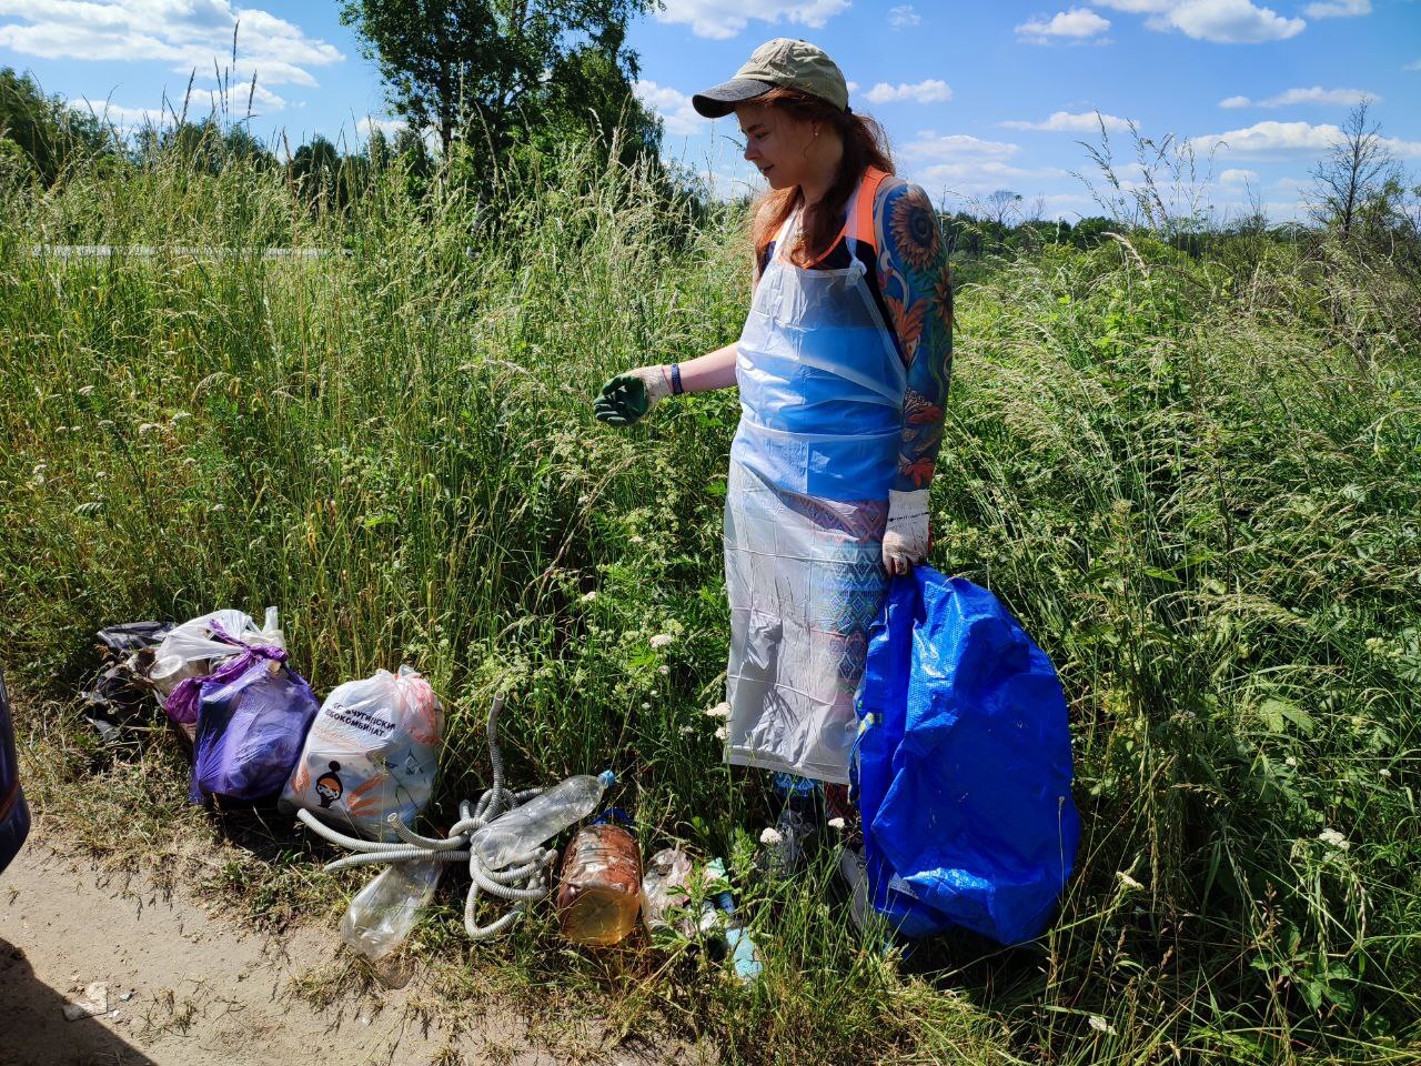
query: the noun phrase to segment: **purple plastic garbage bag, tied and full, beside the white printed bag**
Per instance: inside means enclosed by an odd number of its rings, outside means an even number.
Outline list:
[[[213,674],[183,681],[168,698],[168,715],[198,722],[188,799],[252,802],[279,793],[318,709],[280,648],[243,648]]]

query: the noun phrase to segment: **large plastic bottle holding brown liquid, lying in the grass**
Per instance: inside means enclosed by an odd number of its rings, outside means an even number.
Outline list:
[[[574,944],[617,944],[641,910],[641,847],[621,826],[578,830],[563,856],[557,912]]]

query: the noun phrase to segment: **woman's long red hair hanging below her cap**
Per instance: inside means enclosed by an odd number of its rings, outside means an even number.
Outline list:
[[[804,210],[800,237],[786,253],[790,262],[804,266],[816,256],[828,252],[828,243],[838,236],[844,205],[853,196],[864,171],[877,166],[885,173],[894,172],[888,139],[882,126],[867,115],[840,111],[827,99],[797,90],[776,85],[769,92],[755,97],[755,102],[776,108],[800,122],[824,122],[838,131],[844,142],[844,158],[838,163],[838,173],[834,175],[824,199]],[[770,189],[756,198],[750,212],[750,242],[755,246],[756,263],[784,225],[784,219],[794,210],[797,200],[799,188]]]

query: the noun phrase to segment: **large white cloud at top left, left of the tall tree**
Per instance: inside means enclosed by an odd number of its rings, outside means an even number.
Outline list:
[[[207,77],[230,68],[233,84],[314,85],[311,67],[345,57],[300,26],[232,0],[0,0],[0,48],[47,60],[166,63]],[[232,34],[237,31],[236,63]]]

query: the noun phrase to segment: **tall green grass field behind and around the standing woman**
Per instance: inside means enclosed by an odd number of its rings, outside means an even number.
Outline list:
[[[416,200],[394,168],[344,217],[178,159],[0,192],[0,640],[36,745],[99,625],[276,603],[318,692],[433,679],[446,812],[507,691],[516,780],[611,765],[648,850],[745,858],[763,786],[702,714],[735,395],[630,432],[590,412],[612,372],[737,333],[739,223],[576,148],[503,181],[496,208],[456,171]],[[239,250],[31,253],[57,243]],[[882,957],[826,858],[745,887],[752,991],[549,951],[546,918],[470,974],[729,1062],[1415,1062],[1421,330],[1385,264],[1233,252],[1052,249],[959,293],[932,561],[1066,685],[1084,836],[1052,932]],[[422,935],[448,955],[450,930]]]

